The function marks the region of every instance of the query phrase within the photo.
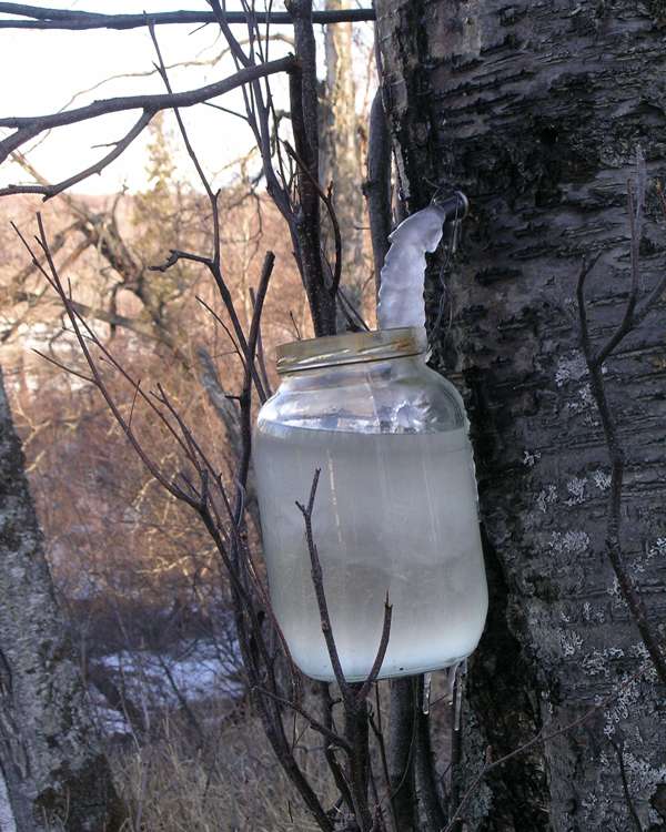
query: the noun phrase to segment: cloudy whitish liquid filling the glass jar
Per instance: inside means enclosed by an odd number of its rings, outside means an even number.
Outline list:
[[[303,672],[334,678],[295,506],[307,503],[316,468],[314,540],[347,679],[370,672],[386,592],[382,677],[448,667],[474,650],[487,589],[465,428],[363,434],[260,423],[254,465],[271,600]]]

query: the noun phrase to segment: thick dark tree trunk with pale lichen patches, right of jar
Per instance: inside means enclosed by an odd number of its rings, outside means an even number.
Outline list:
[[[377,0],[383,92],[411,211],[431,182],[472,201],[436,361],[473,420],[491,617],[471,662],[465,768],[565,724],[630,677],[645,648],[604,549],[610,463],[579,346],[606,341],[630,286],[627,179],[647,159],[643,291],[666,270],[654,180],[666,173],[662,3]],[[662,306],[663,310],[663,306]],[[660,319],[659,319],[660,318]],[[608,359],[626,455],[623,547],[650,619],[666,620],[666,349],[648,316]],[[666,828],[665,691],[654,674],[572,734],[497,769],[470,830]],[[615,745],[623,749],[624,775]],[[626,784],[626,788],[625,788]],[[463,783],[464,785],[464,783]]]

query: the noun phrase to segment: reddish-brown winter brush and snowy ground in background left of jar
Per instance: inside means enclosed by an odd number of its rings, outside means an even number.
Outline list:
[[[230,322],[196,263],[150,270],[171,248],[208,242],[206,203],[175,180],[160,122],[150,172],[151,189],[135,195],[68,195],[46,206],[16,197],[0,205],[3,365],[49,561],[109,733],[130,808],[128,830],[315,829],[249,710],[228,586],[210,539],[151,479],[95,390],[75,375],[84,369],[62,308],[9,224],[30,237],[34,212],[42,211],[57,263],[87,319],[144,389],[169,390],[231,477],[238,437],[230,419],[235,402],[226,395],[238,393],[242,364]],[[223,268],[243,326],[263,253],[276,254],[262,317],[274,384],[273,347],[312,334],[289,236],[246,176],[220,202]],[[371,294],[370,266],[366,288]],[[141,408],[134,413],[131,386],[104,372],[143,442],[178,470],[163,428]],[[252,524],[249,534],[255,534]],[[186,677],[202,661],[210,672],[196,690]],[[332,804],[321,737],[301,721],[293,731],[303,769]]]

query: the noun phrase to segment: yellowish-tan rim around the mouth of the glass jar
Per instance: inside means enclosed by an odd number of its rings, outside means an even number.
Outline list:
[[[422,326],[395,329],[353,332],[321,338],[292,341],[275,349],[278,373],[359,364],[386,358],[422,355],[427,351],[427,336]]]

